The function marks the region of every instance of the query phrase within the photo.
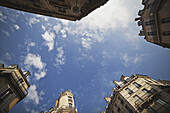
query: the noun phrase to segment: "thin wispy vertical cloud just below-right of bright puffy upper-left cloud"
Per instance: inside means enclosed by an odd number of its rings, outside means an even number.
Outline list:
[[[58,54],[57,54],[57,58],[56,58],[56,62],[57,62],[56,66],[65,64],[65,56],[64,56],[63,48],[58,47],[57,52],[58,52]]]

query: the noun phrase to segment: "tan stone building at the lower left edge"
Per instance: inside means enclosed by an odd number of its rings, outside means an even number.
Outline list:
[[[0,113],[8,113],[12,107],[24,99],[30,84],[29,71],[22,72],[18,65],[4,67],[0,64]]]

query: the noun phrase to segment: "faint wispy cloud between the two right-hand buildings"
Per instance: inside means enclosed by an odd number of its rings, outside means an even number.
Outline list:
[[[136,54],[135,56],[129,56],[127,53],[125,53],[122,56],[122,62],[123,65],[128,67],[130,64],[137,64],[142,61],[142,57],[145,56],[144,54]]]

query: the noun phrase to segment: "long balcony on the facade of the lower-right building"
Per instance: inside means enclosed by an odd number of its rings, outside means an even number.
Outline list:
[[[148,104],[152,103],[154,98],[159,95],[159,92],[156,90],[152,89],[149,93],[144,94],[141,98],[137,99],[135,101],[135,106],[137,109],[143,109],[145,108]]]

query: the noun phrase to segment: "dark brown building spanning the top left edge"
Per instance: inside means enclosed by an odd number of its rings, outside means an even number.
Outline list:
[[[0,5],[75,21],[87,16],[107,1],[108,0],[0,0]]]

